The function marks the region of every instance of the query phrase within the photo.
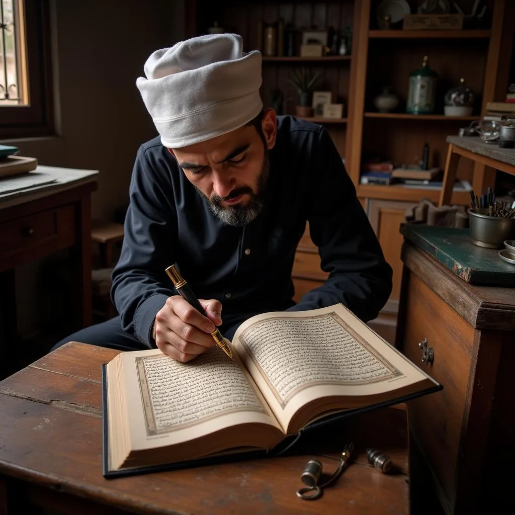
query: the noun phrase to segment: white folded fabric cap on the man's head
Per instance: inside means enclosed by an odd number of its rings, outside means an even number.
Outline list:
[[[243,52],[236,34],[181,41],[147,59],[136,80],[168,148],[181,148],[242,127],[263,108],[261,53]]]

